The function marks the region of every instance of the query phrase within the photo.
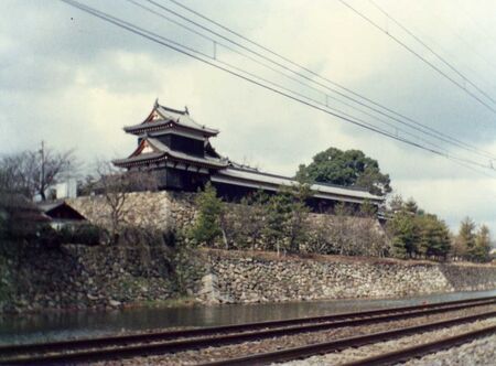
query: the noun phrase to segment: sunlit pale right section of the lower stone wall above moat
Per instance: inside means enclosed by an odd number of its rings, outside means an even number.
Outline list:
[[[496,289],[496,267],[370,258],[207,251],[207,302],[397,298]]]

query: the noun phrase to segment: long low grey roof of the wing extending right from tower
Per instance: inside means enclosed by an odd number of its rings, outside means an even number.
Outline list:
[[[234,166],[217,171],[212,175],[212,181],[270,191],[277,191],[281,185],[291,186],[298,184],[295,180],[288,176],[263,173],[254,169],[239,169]],[[356,203],[362,203],[364,200],[369,200],[375,204],[380,204],[384,202],[384,197],[370,194],[367,191],[356,187],[344,187],[320,183],[312,184],[311,190],[315,192],[313,196],[319,198],[332,198],[336,201]]]

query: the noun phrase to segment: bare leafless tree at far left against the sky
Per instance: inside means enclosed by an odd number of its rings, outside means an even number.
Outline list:
[[[0,159],[0,187],[32,198],[46,200],[46,190],[77,171],[72,150],[57,152],[42,143],[40,151],[26,150]]]

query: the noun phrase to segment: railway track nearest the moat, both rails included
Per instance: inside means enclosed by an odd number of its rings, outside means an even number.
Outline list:
[[[402,320],[495,303],[496,297],[489,297],[436,304],[421,304],[281,321],[10,345],[0,347],[0,364],[64,364],[71,362],[77,363],[132,357],[138,355],[175,353],[185,349],[247,342],[265,337]],[[479,317],[471,319],[484,319],[495,315],[496,312],[485,313],[473,315]],[[455,320],[455,322],[467,321],[470,321],[470,319]],[[229,364],[229,362],[230,360],[227,360],[227,364]],[[241,360],[237,360],[236,363],[239,362]],[[252,363],[256,363],[256,360],[251,359],[250,364]]]

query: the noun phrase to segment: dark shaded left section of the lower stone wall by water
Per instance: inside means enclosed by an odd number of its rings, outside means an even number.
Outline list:
[[[166,300],[177,294],[173,266],[160,249],[64,245],[1,255],[0,313]]]

